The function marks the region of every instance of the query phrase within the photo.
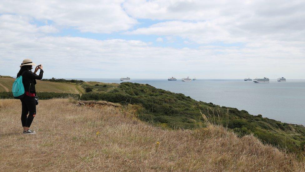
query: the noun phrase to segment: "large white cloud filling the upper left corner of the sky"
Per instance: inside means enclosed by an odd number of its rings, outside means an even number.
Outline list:
[[[130,29],[137,23],[121,8],[123,2],[123,0],[31,2],[14,0],[1,2],[0,13],[18,14],[45,22],[51,20],[60,27],[73,27],[82,32],[112,33]],[[47,29],[47,31],[51,30]]]

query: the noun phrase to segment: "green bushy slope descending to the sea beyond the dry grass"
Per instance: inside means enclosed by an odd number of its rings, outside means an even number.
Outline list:
[[[263,142],[291,152],[302,152],[304,149],[305,128],[300,125],[253,116],[236,108],[198,102],[189,96],[149,85],[125,82],[99,94],[84,94],[82,99],[140,104],[143,108],[138,111],[139,119],[166,128],[199,128],[202,125],[200,111],[210,114],[212,119],[218,118],[219,114],[221,123],[240,136],[254,133]]]

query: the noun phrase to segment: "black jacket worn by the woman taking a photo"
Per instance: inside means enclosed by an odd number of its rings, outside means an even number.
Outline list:
[[[36,80],[41,80],[43,75],[43,70],[41,69],[39,75],[34,74],[31,70],[27,70],[22,74],[22,83],[24,86],[24,91],[29,91],[30,93],[35,93]]]

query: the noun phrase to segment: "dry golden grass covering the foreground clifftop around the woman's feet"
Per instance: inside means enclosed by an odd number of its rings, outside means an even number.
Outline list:
[[[72,103],[73,102],[73,103]],[[19,100],[0,100],[1,171],[304,171],[291,154],[225,128],[162,130],[127,109],[42,100],[22,135]]]

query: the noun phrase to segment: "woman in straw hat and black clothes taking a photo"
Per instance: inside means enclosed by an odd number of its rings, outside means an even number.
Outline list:
[[[22,112],[21,112],[21,123],[23,127],[22,134],[36,134],[35,131],[30,130],[31,123],[36,114],[36,90],[35,84],[36,80],[41,80],[43,75],[42,65],[38,65],[35,71],[32,72],[33,67],[36,66],[35,63],[30,59],[24,59],[20,65],[20,70],[17,77],[22,75],[22,83],[25,90],[25,95],[21,99]],[[39,75],[36,72],[40,69]],[[28,115],[27,115],[28,114]]]

